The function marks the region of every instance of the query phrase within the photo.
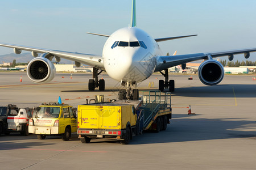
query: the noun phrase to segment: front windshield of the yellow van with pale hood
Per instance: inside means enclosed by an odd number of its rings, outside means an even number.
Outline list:
[[[59,115],[60,115],[59,107],[38,107],[36,109],[36,114],[33,114],[33,117],[58,118]]]

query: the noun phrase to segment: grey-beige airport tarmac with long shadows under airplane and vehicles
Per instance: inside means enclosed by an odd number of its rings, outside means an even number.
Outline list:
[[[20,82],[22,76],[22,82]],[[102,74],[106,90],[88,91],[92,74],[58,73],[52,82],[32,83],[26,73],[0,72],[0,105],[19,108],[57,102],[77,107],[95,95],[116,99],[119,82]],[[255,169],[256,75],[225,75],[217,86],[205,86],[197,75],[170,75],[172,120],[166,131],[143,133],[129,145],[97,139],[89,144],[75,133],[70,141],[18,133],[0,137],[4,169]],[[138,83],[139,90],[158,90],[160,74]],[[191,105],[193,115],[188,115]]]

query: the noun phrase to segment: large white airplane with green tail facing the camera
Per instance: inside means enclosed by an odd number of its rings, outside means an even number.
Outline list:
[[[81,63],[93,67],[93,78],[89,79],[88,83],[89,91],[94,91],[96,87],[100,91],[105,90],[105,80],[99,80],[98,75],[102,71],[106,71],[111,78],[127,87],[126,97],[124,95],[123,98],[134,100],[138,99],[138,90],[134,89],[131,92],[131,87],[133,85],[136,87],[138,82],[146,80],[155,72],[160,72],[165,78],[159,80],[159,90],[174,91],[175,83],[174,80],[169,80],[168,68],[181,65],[182,69],[185,69],[187,62],[203,59],[204,62],[201,63],[198,70],[199,78],[205,85],[213,86],[220,83],[224,78],[224,67],[213,58],[228,56],[228,59],[232,61],[234,54],[244,54],[247,59],[250,57],[250,52],[256,52],[256,48],[250,48],[184,55],[176,55],[175,53],[173,56],[164,56],[158,42],[197,35],[154,39],[142,29],[137,28],[135,0],[132,0],[131,14],[131,25],[118,29],[112,35],[88,32],[92,35],[108,37],[102,50],[102,56],[6,43],[0,43],[0,46],[13,48],[16,54],[20,54],[22,50],[31,52],[35,58],[27,65],[27,75],[32,82],[50,82],[55,77],[56,72],[52,59],[55,58],[57,62],[60,62],[61,58],[65,58],[75,61],[76,67],[80,67]],[[40,57],[38,57],[39,53],[41,54]]]

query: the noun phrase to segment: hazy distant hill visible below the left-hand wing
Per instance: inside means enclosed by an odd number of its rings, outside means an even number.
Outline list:
[[[39,54],[40,55],[40,54]],[[34,57],[31,55],[31,53],[21,53],[21,54],[5,54],[0,56],[0,63],[3,62],[13,62],[14,59],[16,59],[16,63],[26,63],[30,62],[31,59]],[[55,59],[52,59],[52,61],[55,61]],[[65,63],[65,64],[74,64],[73,61],[70,61],[68,59],[61,59],[60,63]]]

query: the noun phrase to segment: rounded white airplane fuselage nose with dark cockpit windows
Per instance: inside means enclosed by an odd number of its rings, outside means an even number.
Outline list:
[[[115,46],[115,42],[129,42]],[[131,43],[130,43],[131,42]],[[132,46],[143,42],[142,46]],[[142,29],[131,27],[115,31],[106,41],[102,58],[108,75],[121,82],[141,82],[155,71],[156,57],[162,52],[156,41]]]

